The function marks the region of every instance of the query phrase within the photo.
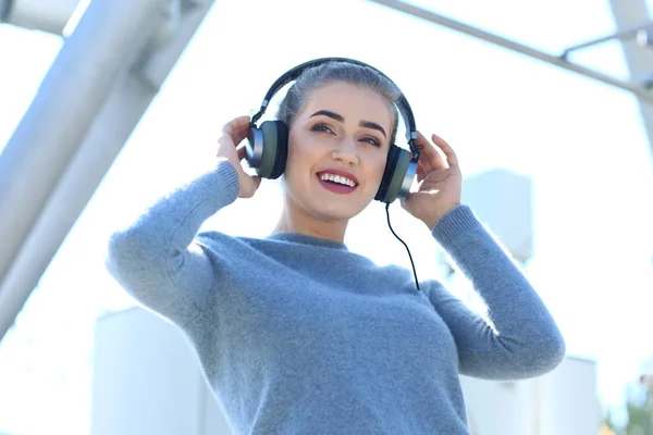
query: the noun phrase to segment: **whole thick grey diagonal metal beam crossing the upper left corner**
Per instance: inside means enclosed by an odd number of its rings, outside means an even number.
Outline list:
[[[0,339],[213,0],[175,3],[94,0],[0,154]]]

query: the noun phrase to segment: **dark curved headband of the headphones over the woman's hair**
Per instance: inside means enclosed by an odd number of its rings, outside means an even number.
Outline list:
[[[270,103],[270,100],[272,99],[272,97],[274,97],[274,95],[281,88],[283,88],[288,83],[299,78],[299,76],[306,70],[308,70],[310,67],[319,66],[319,65],[322,65],[325,63],[330,63],[330,62],[345,62],[345,63],[350,63],[353,65],[369,67],[370,70],[374,71],[377,74],[381,75],[383,78],[385,78],[386,80],[389,80],[390,83],[395,85],[398,89],[398,86],[389,76],[386,76],[381,71],[377,70],[375,67],[373,67],[365,62],[360,62],[360,61],[357,61],[354,59],[347,59],[347,58],[315,59],[315,60],[311,60],[308,62],[304,62],[304,63],[295,66],[294,69],[287,71],[285,74],[283,74],[281,77],[279,77],[272,84],[272,86],[266,94],[266,97],[263,98],[263,102],[261,103],[261,108],[259,109],[258,113],[256,113],[254,116],[251,116],[251,124],[256,125],[256,122],[263,115],[263,113],[266,112],[266,109],[268,109],[268,104]],[[415,116],[412,115],[412,110],[410,109],[410,104],[408,104],[408,100],[406,99],[406,97],[404,97],[403,92],[402,92],[399,99],[396,101],[396,105],[402,114],[402,119],[404,120],[404,123],[406,124],[406,140],[408,141],[408,147],[410,148],[410,152],[412,153],[412,159],[410,161],[417,163],[417,161],[419,160],[419,154],[420,154],[419,149],[417,148],[417,127],[415,125]]]

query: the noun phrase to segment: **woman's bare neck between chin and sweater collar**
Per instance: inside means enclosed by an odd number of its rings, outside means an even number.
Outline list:
[[[344,243],[347,220],[321,221],[286,198],[283,212],[272,233],[296,233]]]

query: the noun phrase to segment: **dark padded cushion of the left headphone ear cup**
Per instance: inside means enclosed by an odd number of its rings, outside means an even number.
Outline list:
[[[279,178],[287,157],[287,127],[282,121],[266,121],[258,130],[262,136],[262,151],[256,173],[263,178]]]

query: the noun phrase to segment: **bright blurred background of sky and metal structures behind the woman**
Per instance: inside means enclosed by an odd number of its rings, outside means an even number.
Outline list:
[[[0,0],[0,434],[230,433],[185,338],[104,270],[107,240],[328,55],[382,70],[452,144],[465,201],[566,338],[540,378],[463,378],[472,433],[653,434],[650,3]],[[280,195],[263,182],[206,227],[264,236]],[[391,215],[420,278],[479,308]],[[350,228],[350,250],[409,268],[382,204]]]

